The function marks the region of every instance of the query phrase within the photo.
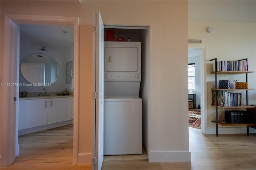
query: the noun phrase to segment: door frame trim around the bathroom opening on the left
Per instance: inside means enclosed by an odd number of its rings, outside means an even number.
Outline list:
[[[73,164],[77,164],[78,155],[78,18],[75,17],[56,17],[56,16],[29,16],[29,15],[6,15],[4,27],[4,55],[3,62],[7,67],[2,69],[1,76],[8,82],[17,82],[18,71],[16,71],[19,56],[18,37],[19,24],[41,24],[41,25],[70,25],[74,26],[74,145],[73,145]],[[10,64],[12,63],[12,64]],[[8,65],[9,64],[9,65]],[[10,95],[1,94],[2,117],[1,119],[1,166],[9,166],[15,161],[15,143],[17,142],[18,127],[16,126],[16,108],[18,101],[17,88],[9,90]],[[9,96],[9,97],[8,97]],[[13,98],[14,101],[13,102]],[[8,114],[7,114],[8,113]],[[15,137],[14,137],[15,136]]]

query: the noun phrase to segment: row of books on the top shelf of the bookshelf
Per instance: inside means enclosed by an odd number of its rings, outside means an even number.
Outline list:
[[[213,72],[215,72],[215,62]],[[217,71],[248,71],[248,63],[244,60],[217,61]]]

